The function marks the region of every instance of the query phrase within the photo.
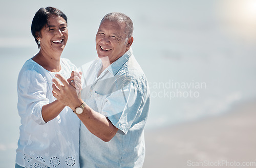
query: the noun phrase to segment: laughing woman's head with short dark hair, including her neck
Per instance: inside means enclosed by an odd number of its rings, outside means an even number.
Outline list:
[[[39,21],[34,18],[31,26],[32,34],[38,48],[40,48],[32,60],[49,71],[58,72],[61,69],[59,65],[60,55],[69,36],[67,17],[52,11],[52,14],[47,15],[45,13],[40,26],[35,25]]]

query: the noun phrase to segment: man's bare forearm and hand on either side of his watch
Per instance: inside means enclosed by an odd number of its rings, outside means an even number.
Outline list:
[[[63,85],[60,85],[56,79],[53,79],[53,96],[61,103],[75,110],[83,102],[80,98],[80,93],[77,94],[76,90],[61,75],[56,74],[56,77]],[[104,142],[110,141],[118,131],[118,128],[108,118],[93,110],[87,104],[83,109],[83,113],[77,116],[91,133]]]

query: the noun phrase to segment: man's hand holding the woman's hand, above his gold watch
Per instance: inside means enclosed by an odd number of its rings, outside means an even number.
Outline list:
[[[52,94],[53,96],[58,99],[61,103],[69,106],[72,110],[75,110],[76,107],[82,104],[82,99],[80,95],[80,90],[77,94],[77,90],[61,75],[55,75],[63,85],[59,83],[57,79],[53,79],[52,85]],[[73,75],[75,77],[76,75]],[[76,81],[76,80],[75,80]],[[78,82],[79,83],[79,82]],[[75,86],[78,84],[75,83]]]

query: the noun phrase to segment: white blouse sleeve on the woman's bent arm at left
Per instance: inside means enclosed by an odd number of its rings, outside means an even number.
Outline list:
[[[46,124],[41,114],[42,106],[49,103],[45,78],[35,70],[27,70],[19,76],[17,86],[18,109],[25,111],[37,124]]]

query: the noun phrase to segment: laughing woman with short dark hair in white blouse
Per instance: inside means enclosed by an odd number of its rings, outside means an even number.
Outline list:
[[[79,167],[79,119],[52,95],[56,73],[70,77],[73,87],[79,89],[81,84],[81,74],[74,72],[77,68],[60,58],[68,40],[67,16],[56,8],[40,8],[31,32],[39,52],[18,76],[17,107],[22,125],[15,167]]]

